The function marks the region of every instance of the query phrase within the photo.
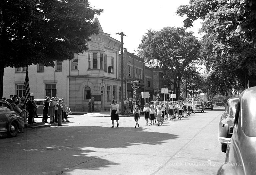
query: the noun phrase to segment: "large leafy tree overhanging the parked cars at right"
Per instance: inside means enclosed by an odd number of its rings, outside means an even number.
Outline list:
[[[213,65],[211,69],[222,77],[233,77],[238,88],[256,85],[256,2],[253,0],[191,0],[189,5],[180,6],[180,16],[187,15],[184,26],[189,27],[196,19],[203,19],[202,31],[213,39]],[[212,64],[215,62],[215,64]],[[226,79],[223,79],[226,81]],[[228,80],[230,83],[230,79]],[[230,89],[229,89],[230,90]]]

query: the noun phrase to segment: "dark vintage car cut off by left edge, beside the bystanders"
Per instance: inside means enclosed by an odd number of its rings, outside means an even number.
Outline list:
[[[24,119],[18,116],[10,103],[0,99],[0,133],[15,137],[19,128],[24,128]]]

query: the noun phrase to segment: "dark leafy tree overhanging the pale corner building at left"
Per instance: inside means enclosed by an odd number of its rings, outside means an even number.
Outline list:
[[[88,50],[89,36],[99,30],[94,15],[101,12],[88,0],[1,0],[0,98],[5,67],[54,66]]]

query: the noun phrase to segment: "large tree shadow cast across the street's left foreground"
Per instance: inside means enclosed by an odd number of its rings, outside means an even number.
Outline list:
[[[43,133],[43,135],[42,135]],[[152,132],[146,128],[77,126],[42,128],[25,132],[15,138],[0,139],[0,150],[5,152],[2,173],[15,174],[72,174],[83,170],[100,170],[118,165],[111,154],[124,152],[138,144],[159,145],[177,135]],[[4,145],[4,146],[3,146]],[[131,148],[135,151],[137,148]],[[138,150],[139,151],[139,150]],[[10,161],[19,162],[15,169]],[[2,154],[1,154],[2,155]],[[106,158],[104,158],[106,157]],[[27,166],[33,163],[36,166]]]

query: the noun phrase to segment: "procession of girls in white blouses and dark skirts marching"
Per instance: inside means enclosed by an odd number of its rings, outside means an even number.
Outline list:
[[[134,121],[136,122],[134,128],[139,127],[139,119],[140,119],[140,101],[134,105],[133,114]],[[110,105],[110,113],[112,120],[112,128],[114,128],[114,120],[117,122],[117,127],[119,126],[118,120],[118,108],[119,105],[116,103],[114,99],[112,104]],[[195,113],[195,106],[193,102],[186,102],[186,100],[181,102],[160,102],[159,105],[155,102],[154,105],[149,106],[148,103],[145,104],[143,108],[143,112],[145,114],[144,118],[146,120],[146,125],[157,125],[160,126],[163,124],[164,120],[173,120],[173,119],[182,119],[182,117],[190,116],[192,113]]]

